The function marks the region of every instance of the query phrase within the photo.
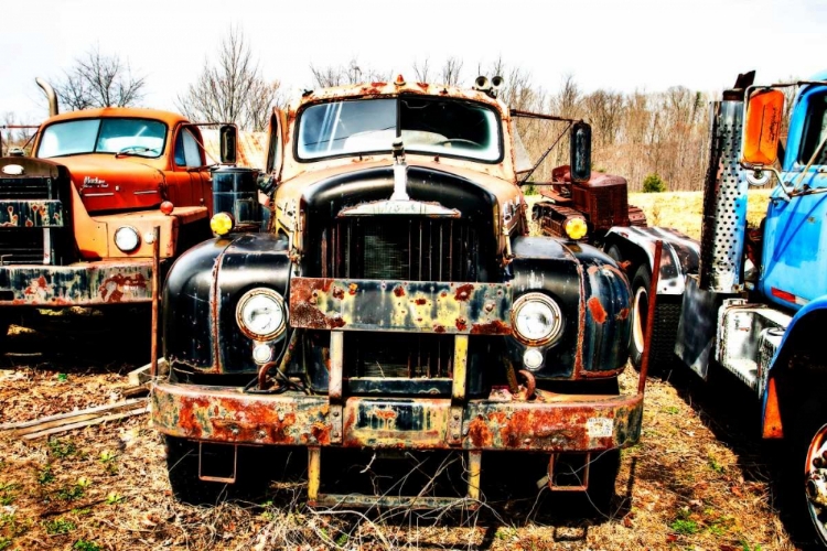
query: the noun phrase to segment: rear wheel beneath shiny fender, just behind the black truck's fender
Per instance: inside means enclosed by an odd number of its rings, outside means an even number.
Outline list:
[[[632,278],[632,338],[629,345],[632,365],[640,369],[643,364],[644,337],[646,334],[646,316],[648,316],[649,287],[652,285],[652,270],[648,266],[641,266]],[[680,321],[679,298],[659,295],[655,311],[655,327],[652,333],[652,353],[649,354],[649,371],[670,364],[675,358],[675,338]]]

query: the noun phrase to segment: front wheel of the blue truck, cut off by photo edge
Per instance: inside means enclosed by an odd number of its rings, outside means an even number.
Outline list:
[[[790,465],[794,503],[803,504],[812,532],[827,547],[827,423],[825,408],[806,403],[797,415],[795,463]],[[804,462],[804,479],[801,465]],[[797,496],[795,494],[798,494]],[[803,496],[802,496],[803,494]],[[804,499],[802,499],[802,497]]]

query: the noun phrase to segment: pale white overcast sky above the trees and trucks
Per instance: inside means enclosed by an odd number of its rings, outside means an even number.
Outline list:
[[[457,56],[473,78],[502,56],[552,91],[566,74],[586,91],[716,91],[748,69],[775,82],[827,65],[827,0],[7,0],[0,116],[42,120],[34,77],[54,82],[96,46],[146,75],[146,106],[174,110],[232,24],[291,89],[311,83],[310,64],[352,58],[412,75],[415,60]]]

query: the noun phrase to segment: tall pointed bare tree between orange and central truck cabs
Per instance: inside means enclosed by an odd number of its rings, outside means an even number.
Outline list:
[[[280,83],[261,76],[244,32],[230,28],[215,64],[207,58],[195,84],[175,105],[191,120],[235,122],[244,130],[267,128],[272,107],[281,104]]]

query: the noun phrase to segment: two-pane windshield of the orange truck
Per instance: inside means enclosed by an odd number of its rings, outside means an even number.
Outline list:
[[[50,125],[36,155],[123,153],[155,158],[163,151],[167,125],[148,119],[83,119]]]

